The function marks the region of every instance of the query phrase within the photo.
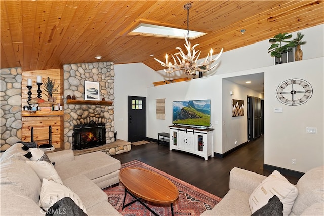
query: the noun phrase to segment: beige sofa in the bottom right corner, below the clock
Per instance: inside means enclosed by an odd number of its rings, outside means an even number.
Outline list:
[[[237,167],[233,168],[230,171],[230,190],[228,193],[212,210],[207,210],[201,215],[251,215],[253,213],[250,209],[250,205],[252,205],[251,200],[253,200],[251,194],[255,193],[258,190],[257,188],[260,188],[266,194],[266,186],[264,184],[271,184],[266,179],[266,176],[256,174],[255,172]],[[282,183],[280,180],[278,187],[281,187],[281,189],[278,189],[277,192],[281,193],[279,190],[284,190],[282,189],[284,184],[288,185],[290,183]],[[271,186],[271,193],[276,190],[275,187],[277,186]],[[288,193],[283,197],[279,197],[280,201],[284,203],[284,200],[287,200],[288,196],[294,194],[294,197],[290,200],[292,205],[290,212],[284,204],[284,215],[285,210],[288,210],[288,215],[324,215],[324,166],[309,170],[299,179],[296,186],[291,184],[288,187]],[[284,193],[282,192],[282,194]],[[261,213],[257,215],[265,214]]]

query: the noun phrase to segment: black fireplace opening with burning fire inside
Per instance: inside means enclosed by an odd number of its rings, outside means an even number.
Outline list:
[[[106,144],[106,127],[104,123],[75,125],[73,128],[73,150],[87,149]]]

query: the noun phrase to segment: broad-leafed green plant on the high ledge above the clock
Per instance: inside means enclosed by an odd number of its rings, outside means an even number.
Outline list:
[[[279,63],[282,63],[281,57],[282,54],[287,53],[288,51],[291,51],[293,47],[295,47],[295,42],[288,41],[293,35],[288,33],[279,33],[275,35],[273,38],[269,40],[270,43],[272,43],[271,47],[268,49],[268,53],[272,57],[276,57],[279,59]]]

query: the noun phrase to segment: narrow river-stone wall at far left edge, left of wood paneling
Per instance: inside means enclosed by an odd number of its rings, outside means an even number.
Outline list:
[[[21,141],[21,68],[0,69],[1,150]]]

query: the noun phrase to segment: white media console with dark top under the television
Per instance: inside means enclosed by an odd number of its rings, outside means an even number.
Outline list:
[[[170,151],[173,149],[204,157],[214,157],[214,128],[173,125],[170,129]]]

